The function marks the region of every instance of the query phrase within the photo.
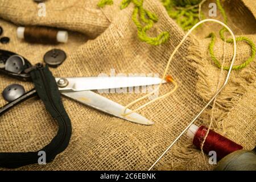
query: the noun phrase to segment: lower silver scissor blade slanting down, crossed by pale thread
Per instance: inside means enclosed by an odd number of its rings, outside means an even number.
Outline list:
[[[90,90],[80,92],[61,92],[64,96],[72,98],[73,100],[80,102],[81,104],[88,105],[94,109],[101,110],[104,113],[114,115],[115,117],[125,119],[127,121],[139,123],[142,125],[152,125],[154,122],[149,121],[147,118],[140,114],[132,113],[127,116],[122,116],[124,106],[117,102],[111,101],[108,98],[100,96]],[[129,109],[126,112],[130,111]]]

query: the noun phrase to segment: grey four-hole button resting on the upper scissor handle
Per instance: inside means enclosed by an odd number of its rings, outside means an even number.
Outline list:
[[[12,73],[20,73],[23,71],[25,61],[22,56],[10,56],[5,63],[5,70]]]

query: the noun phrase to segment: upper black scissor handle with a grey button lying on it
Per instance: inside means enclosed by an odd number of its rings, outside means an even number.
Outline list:
[[[6,63],[6,60],[10,56],[13,56],[13,55],[18,55],[18,54],[0,49],[0,60],[2,60],[4,63]],[[23,56],[21,56],[21,57],[23,57]],[[13,72],[6,71],[5,68],[0,68],[0,74],[14,77],[14,78],[17,78],[22,81],[31,81],[30,74],[25,73],[24,71],[25,71],[25,69],[32,67],[32,65],[31,65],[30,61],[28,61],[24,57],[23,57],[23,59],[24,59],[24,66],[23,66],[23,71],[21,73],[13,73]]]

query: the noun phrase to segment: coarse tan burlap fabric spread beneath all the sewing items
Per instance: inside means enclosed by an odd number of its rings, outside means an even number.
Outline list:
[[[4,28],[4,35],[11,38],[9,44],[0,44],[0,48],[17,52],[32,64],[42,62],[44,53],[49,49],[63,49],[68,59],[59,68],[51,69],[56,77],[97,76],[100,73],[109,74],[110,69],[115,69],[116,73],[159,73],[162,76],[170,54],[183,38],[184,32],[168,16],[161,2],[144,1],[144,8],[159,17],[159,22],[149,34],[155,36],[162,31],[170,32],[170,40],[160,46],[150,46],[138,40],[137,28],[131,20],[133,5],[120,10],[121,1],[117,0],[114,5],[99,9],[97,2],[48,0],[47,16],[40,18],[37,4],[32,0],[0,0],[0,24]],[[232,1],[226,1],[224,6],[228,9],[230,26],[237,35],[250,34],[248,36],[256,42],[255,2],[247,0],[246,6],[241,2],[239,7],[243,11],[233,11],[235,5]],[[18,40],[15,35],[17,26],[31,24],[65,28],[70,31],[69,42],[42,46]],[[47,165],[33,164],[19,169],[148,169],[202,109],[216,91],[218,81],[225,77],[226,72],[220,76],[220,69],[210,60],[207,51],[209,39],[204,39],[200,33],[200,30],[206,34],[206,31],[218,31],[219,28],[211,23],[197,28],[195,36],[191,36],[176,53],[169,74],[178,82],[179,88],[172,96],[140,112],[154,121],[154,125],[142,126],[123,121],[63,97],[73,126],[67,150]],[[218,40],[214,50],[218,59],[223,59],[225,52],[225,64],[229,64],[232,45],[226,44],[225,51],[223,47],[224,43]],[[249,46],[239,43],[236,64],[249,55]],[[213,109],[205,111],[197,125],[204,123],[208,126],[212,119],[214,130],[242,144],[245,149],[252,149],[256,139],[255,74],[255,62],[232,72],[228,86],[212,105]],[[12,83],[22,84],[26,90],[32,88],[31,83],[6,76],[0,78],[0,90]],[[164,85],[160,93],[170,89],[170,85]],[[142,95],[103,94],[122,105]],[[6,102],[0,97],[0,105],[4,104]],[[42,101],[36,98],[4,114],[0,126],[1,152],[36,151],[49,143],[57,130]],[[205,159],[208,159],[207,156]],[[191,140],[183,136],[154,169],[206,170],[213,167],[205,163],[203,154],[192,146]]]

